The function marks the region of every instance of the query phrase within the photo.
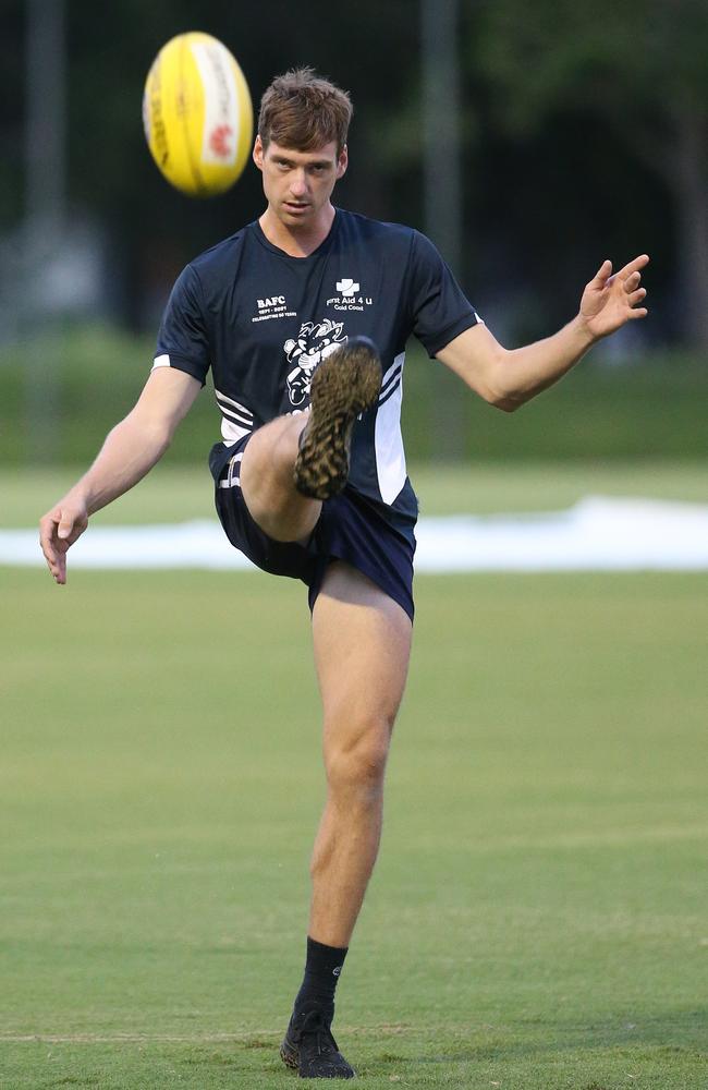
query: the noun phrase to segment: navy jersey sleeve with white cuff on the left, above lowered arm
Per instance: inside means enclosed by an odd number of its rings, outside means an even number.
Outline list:
[[[202,306],[202,284],[191,265],[175,280],[157,335],[152,370],[185,371],[204,386],[209,370],[209,339]]]

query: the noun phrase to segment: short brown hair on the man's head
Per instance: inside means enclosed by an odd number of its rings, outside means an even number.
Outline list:
[[[278,75],[260,99],[258,133],[264,148],[270,141],[295,152],[312,152],[330,141],[340,155],[354,108],[349,94],[312,68]]]

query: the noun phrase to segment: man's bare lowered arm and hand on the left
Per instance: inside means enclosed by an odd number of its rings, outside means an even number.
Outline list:
[[[183,371],[158,367],[127,416],[109,432],[86,474],[40,520],[39,541],[50,572],[66,582],[66,550],[88,519],[137,484],[169,447],[200,383]]]

